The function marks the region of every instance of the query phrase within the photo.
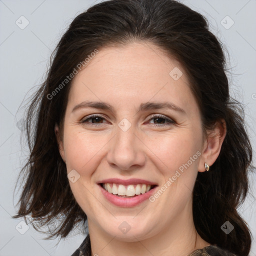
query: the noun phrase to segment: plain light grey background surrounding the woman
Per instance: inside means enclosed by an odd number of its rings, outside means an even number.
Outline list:
[[[20,219],[12,219],[13,189],[27,149],[20,146],[20,129],[16,123],[22,118],[18,107],[28,90],[42,81],[49,56],[60,35],[72,19],[98,1],[92,0],[0,0],[0,255],[67,255],[81,243],[84,235],[73,235],[61,240],[42,240],[43,234],[32,226],[25,230]],[[232,77],[229,77],[231,94],[245,106],[248,131],[255,152],[256,126],[256,0],[183,0],[183,3],[204,14],[210,29],[226,45]],[[29,24],[20,29],[24,16]],[[234,24],[231,25],[232,20]],[[224,19],[223,19],[224,18]],[[221,21],[222,20],[222,21]],[[226,29],[222,24],[228,28]],[[22,25],[25,20],[22,19]],[[29,93],[28,93],[29,94]],[[253,158],[255,164],[255,155]],[[256,175],[250,177],[251,190],[239,212],[253,234],[250,255],[256,255],[255,189]],[[209,212],[210,214],[210,212]]]

